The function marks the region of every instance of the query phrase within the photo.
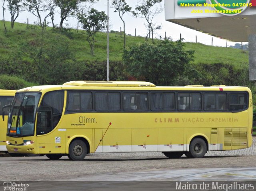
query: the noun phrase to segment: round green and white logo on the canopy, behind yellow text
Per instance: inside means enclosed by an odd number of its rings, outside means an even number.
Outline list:
[[[237,15],[251,6],[250,0],[210,0],[210,2],[223,15]]]

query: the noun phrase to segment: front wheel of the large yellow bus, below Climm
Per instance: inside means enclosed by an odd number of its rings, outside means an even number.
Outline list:
[[[68,158],[71,160],[82,160],[86,154],[87,147],[82,140],[74,140],[68,148]]]

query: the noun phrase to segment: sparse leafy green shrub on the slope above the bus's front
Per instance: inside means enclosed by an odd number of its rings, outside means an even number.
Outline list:
[[[40,85],[61,84],[73,76],[74,54],[64,35],[38,30],[40,35],[29,39],[21,47],[22,57],[30,58],[34,69],[27,73],[25,79]],[[50,35],[55,35],[51,37]]]

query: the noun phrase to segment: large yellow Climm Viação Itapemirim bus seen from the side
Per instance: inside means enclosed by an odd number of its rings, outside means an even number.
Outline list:
[[[67,155],[162,152],[202,158],[252,144],[247,87],[156,87],[148,82],[71,81],[18,90],[8,152]]]

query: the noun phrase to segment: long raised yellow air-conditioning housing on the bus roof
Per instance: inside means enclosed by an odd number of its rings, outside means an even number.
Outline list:
[[[120,86],[120,87],[156,87],[150,82],[135,81],[70,81],[63,85],[73,86]]]

